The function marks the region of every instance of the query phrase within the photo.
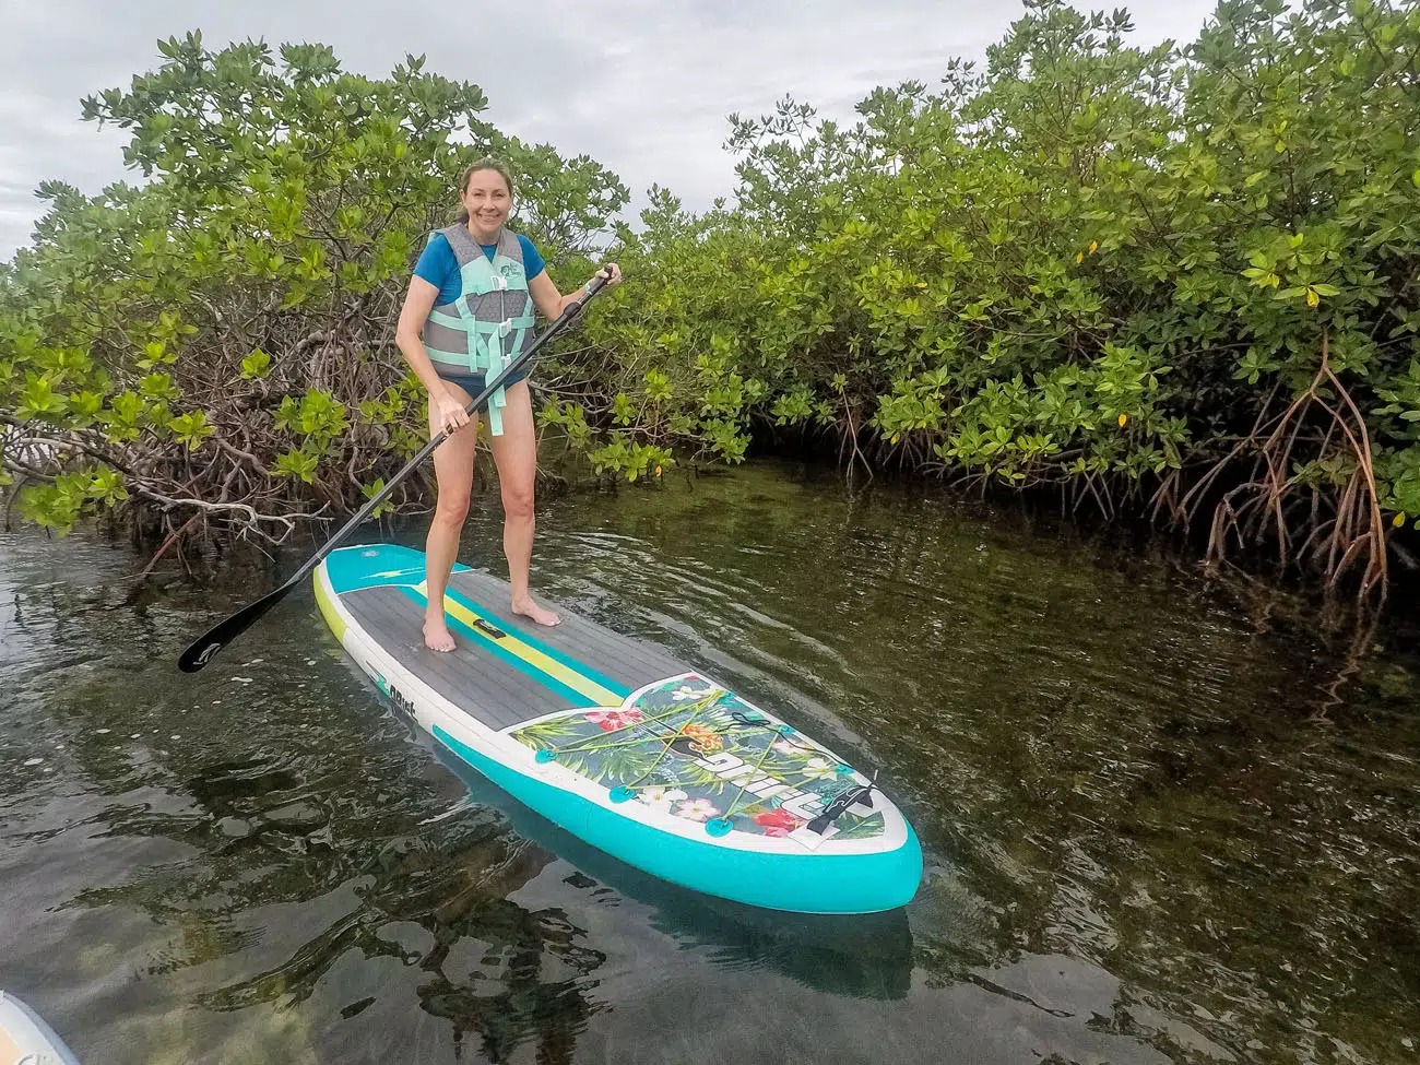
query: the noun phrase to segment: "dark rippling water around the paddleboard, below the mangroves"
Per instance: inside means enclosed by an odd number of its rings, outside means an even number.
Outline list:
[[[538,588],[882,771],[906,910],[588,851],[409,733],[305,594],[179,674],[258,554],[131,599],[125,547],[20,531],[0,987],[85,1065],[1420,1058],[1413,633],[1350,673],[1189,568],[791,466],[540,520]]]

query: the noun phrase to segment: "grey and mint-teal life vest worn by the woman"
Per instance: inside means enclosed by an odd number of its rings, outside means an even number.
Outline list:
[[[463,293],[437,304],[425,321],[425,351],[442,378],[483,373],[493,381],[523,351],[537,317],[528,294],[523,244],[507,229],[498,231],[493,260],[463,224],[437,230],[459,263]],[[488,398],[488,430],[503,436],[506,405],[500,388]]]

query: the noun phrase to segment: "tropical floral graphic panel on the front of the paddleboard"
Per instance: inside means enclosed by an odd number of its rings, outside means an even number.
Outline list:
[[[511,736],[538,761],[605,785],[613,802],[701,822],[711,835],[788,836],[809,825],[835,839],[883,832],[848,765],[693,673],[648,684],[619,707],[574,710]]]

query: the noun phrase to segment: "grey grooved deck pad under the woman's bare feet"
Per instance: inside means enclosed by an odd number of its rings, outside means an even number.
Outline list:
[[[538,625],[515,615],[507,581],[490,574],[457,572],[449,586],[476,604],[503,632],[525,639],[530,646],[555,650],[628,690],[693,672],[665,650],[612,632],[557,604],[548,605],[562,616],[561,625]],[[532,717],[596,704],[595,699],[572,697],[564,686],[540,680],[535,670],[530,673],[507,660],[460,632],[453,621],[450,630],[459,646],[446,653],[430,650],[423,638],[423,606],[403,588],[359,588],[341,594],[341,602],[359,628],[405,669],[491,728],[510,728]]]

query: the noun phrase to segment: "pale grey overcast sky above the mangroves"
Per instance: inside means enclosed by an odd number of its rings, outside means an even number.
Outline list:
[[[1136,0],[1136,41],[1193,40],[1213,6]],[[792,94],[851,118],[876,85],[936,85],[953,55],[981,58],[1021,13],[1020,0],[0,0],[0,260],[30,241],[41,180],[92,195],[125,176],[124,133],[82,122],[78,101],[156,68],[159,37],[321,41],[375,77],[423,53],[427,70],[480,85],[504,132],[616,172],[632,212],[652,183],[699,210],[734,186],[730,112]]]

